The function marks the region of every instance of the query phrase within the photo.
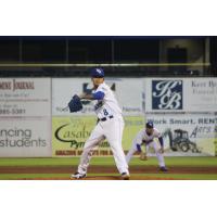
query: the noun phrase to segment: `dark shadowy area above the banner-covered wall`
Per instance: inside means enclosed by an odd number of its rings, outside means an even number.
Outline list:
[[[104,69],[108,76],[217,76],[217,37],[0,37],[1,77],[89,75],[88,67],[12,67],[10,64],[199,62],[210,65]]]

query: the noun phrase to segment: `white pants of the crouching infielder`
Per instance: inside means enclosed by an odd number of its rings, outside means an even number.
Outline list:
[[[149,148],[152,146],[155,151],[155,154],[156,154],[156,157],[158,159],[158,165],[159,167],[162,166],[165,166],[165,163],[164,163],[164,155],[159,152],[158,150],[158,145],[155,141],[152,141],[150,142],[149,144],[145,144],[145,152],[148,153],[149,152]],[[137,143],[132,142],[132,146],[131,149],[129,150],[129,152],[127,153],[126,155],[126,161],[127,163],[129,164],[132,155],[137,152]]]

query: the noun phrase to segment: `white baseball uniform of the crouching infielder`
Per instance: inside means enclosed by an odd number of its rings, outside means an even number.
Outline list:
[[[157,142],[154,141],[154,138],[161,138],[161,137],[162,135],[156,128],[154,128],[152,135],[148,135],[145,129],[141,129],[133,139],[132,146],[126,155],[127,163],[129,164],[132,155],[138,151],[137,144],[142,145],[142,143],[145,143],[145,152],[148,153],[149,148],[152,146],[156,153],[159,167],[164,167],[165,166],[164,155],[158,151],[159,148]]]

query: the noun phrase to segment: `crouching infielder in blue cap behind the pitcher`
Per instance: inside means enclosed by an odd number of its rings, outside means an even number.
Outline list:
[[[158,139],[161,148],[158,148],[158,144],[156,141],[154,141],[154,138]],[[156,157],[158,159],[159,170],[167,171],[167,168],[165,167],[164,155],[163,155],[164,140],[162,138],[161,132],[156,128],[154,128],[154,125],[152,122],[148,122],[146,127],[144,129],[141,129],[136,136],[136,138],[133,139],[132,146],[126,155],[126,161],[128,164],[136,152],[139,152],[141,154],[140,158],[143,157],[143,153],[141,150],[142,144],[145,145],[145,153],[149,152],[150,146],[154,149]]]

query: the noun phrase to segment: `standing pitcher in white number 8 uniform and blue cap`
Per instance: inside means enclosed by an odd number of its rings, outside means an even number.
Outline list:
[[[117,169],[123,179],[129,179],[128,164],[125,158],[122,146],[124,130],[124,119],[122,110],[111,88],[104,82],[104,72],[102,68],[91,71],[93,82],[93,93],[82,93],[81,99],[94,100],[94,112],[98,116],[98,124],[92,130],[89,139],[86,141],[80,157],[80,164],[72,178],[81,179],[87,176],[87,169],[91,159],[93,150],[107,139],[112,149]]]

